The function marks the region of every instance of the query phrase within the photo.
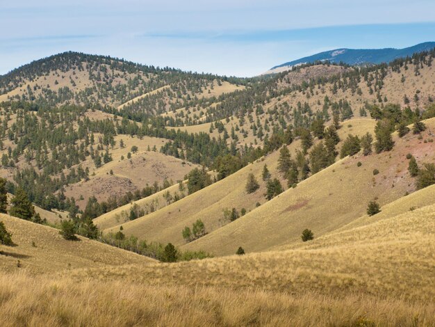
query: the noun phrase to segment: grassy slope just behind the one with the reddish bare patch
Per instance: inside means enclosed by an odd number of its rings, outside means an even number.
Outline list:
[[[355,119],[343,124],[340,129],[340,137],[345,138],[347,134],[365,134],[372,131],[375,125],[374,120]],[[351,127],[350,127],[351,126]],[[300,147],[300,142],[295,141],[290,145],[290,152]],[[261,180],[263,166],[268,165],[272,177],[280,177],[277,173],[278,152],[269,154],[264,159],[239,170],[237,173],[217,182],[206,189],[194,193],[172,205],[148,214],[136,221],[124,223],[123,228],[126,234],[134,234],[140,238],[156,241],[172,241],[175,244],[183,244],[181,230],[186,225],[192,225],[197,219],[202,219],[206,225],[207,232],[221,228],[222,225],[229,223],[224,221],[224,209],[236,207],[240,212],[245,208],[247,212],[256,208],[256,203],[265,203],[265,182]],[[254,173],[261,187],[253,194],[247,194],[245,183],[247,175]],[[281,178],[281,182],[286,185],[286,181]],[[199,205],[200,204],[200,205]],[[107,215],[106,215],[107,216]],[[99,222],[99,219],[97,220]],[[113,231],[117,230],[114,228]]]

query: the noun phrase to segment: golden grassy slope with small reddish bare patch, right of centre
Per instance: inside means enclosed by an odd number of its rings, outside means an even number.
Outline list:
[[[433,129],[435,120],[426,124]],[[340,228],[365,214],[370,200],[383,206],[415,190],[407,153],[420,163],[435,161],[435,143],[424,142],[428,131],[423,135],[421,140],[412,134],[395,137],[391,152],[342,159],[186,248],[227,255],[243,246],[254,252],[295,243],[306,228],[317,235]],[[374,169],[378,175],[373,175]]]

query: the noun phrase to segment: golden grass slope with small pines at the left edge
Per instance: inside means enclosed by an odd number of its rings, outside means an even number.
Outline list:
[[[1,271],[50,273],[85,267],[153,262],[125,250],[79,237],[66,241],[54,228],[0,214],[16,246],[0,245]],[[17,267],[17,262],[21,267]]]

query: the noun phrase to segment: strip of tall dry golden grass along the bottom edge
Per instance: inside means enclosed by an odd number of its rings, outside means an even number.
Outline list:
[[[0,274],[1,326],[433,326],[433,303]]]

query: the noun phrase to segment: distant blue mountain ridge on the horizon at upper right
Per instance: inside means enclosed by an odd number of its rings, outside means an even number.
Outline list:
[[[424,42],[404,49],[334,49],[320,52],[272,67],[268,73],[280,72],[286,67],[315,61],[330,61],[331,63],[347,63],[348,65],[389,63],[397,58],[412,56],[417,52],[429,51],[435,48],[435,42]]]

